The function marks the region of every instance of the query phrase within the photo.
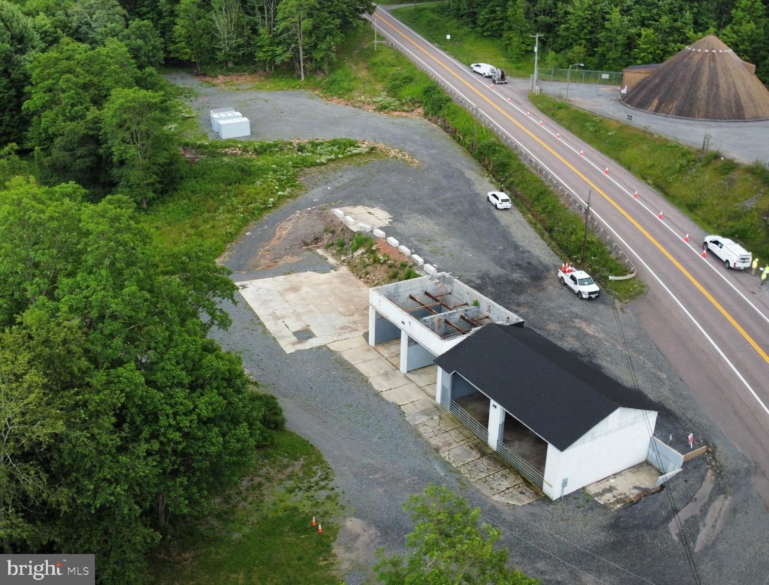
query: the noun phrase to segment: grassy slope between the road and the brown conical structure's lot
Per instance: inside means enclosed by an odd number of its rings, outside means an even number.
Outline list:
[[[769,258],[769,169],[739,165],[601,118],[547,95],[530,96],[545,115],[618,161],[684,211],[704,231],[741,241]]]

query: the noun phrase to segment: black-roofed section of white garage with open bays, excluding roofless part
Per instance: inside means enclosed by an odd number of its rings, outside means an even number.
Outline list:
[[[435,363],[435,400],[552,499],[649,457],[650,401],[529,327],[487,325]]]

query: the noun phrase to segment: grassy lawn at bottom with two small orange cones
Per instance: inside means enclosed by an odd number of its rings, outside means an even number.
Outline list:
[[[337,585],[332,544],[340,512],[333,474],[307,440],[281,430],[240,487],[204,520],[172,534],[151,559],[158,585]],[[323,533],[310,526],[311,517]]]

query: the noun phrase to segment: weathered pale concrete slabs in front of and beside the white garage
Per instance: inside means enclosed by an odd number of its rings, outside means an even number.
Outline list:
[[[321,255],[335,264],[334,271],[237,283],[242,297],[283,350],[291,354],[325,345],[338,352],[384,400],[401,408],[408,423],[444,460],[492,500],[520,506],[542,497],[484,440],[435,402],[435,365],[401,374],[400,339],[368,345],[368,287],[348,268]],[[622,475],[626,474],[618,474]],[[597,482],[593,489],[588,487],[588,493],[607,507],[621,507],[634,500],[639,488],[647,488],[646,481],[638,481],[645,473],[636,470],[627,475]]]

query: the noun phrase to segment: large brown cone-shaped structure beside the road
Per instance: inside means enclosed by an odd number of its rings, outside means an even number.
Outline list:
[[[635,83],[621,100],[654,114],[698,120],[769,119],[769,90],[715,35],[673,55]]]

